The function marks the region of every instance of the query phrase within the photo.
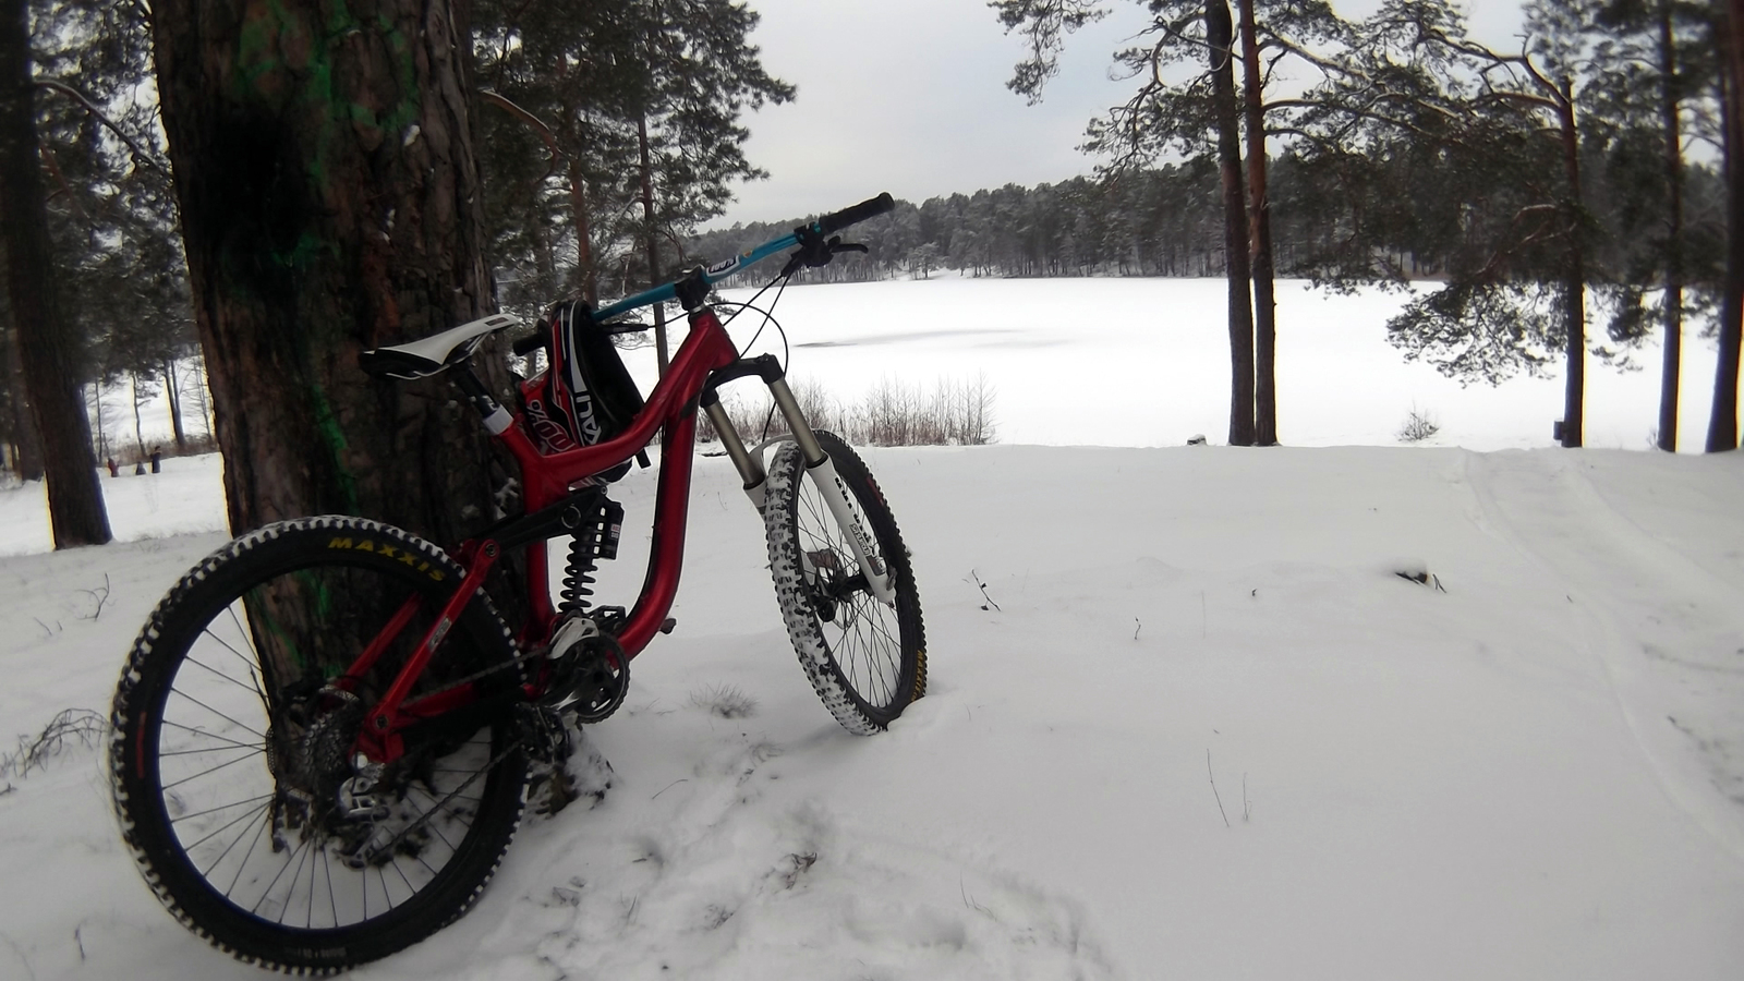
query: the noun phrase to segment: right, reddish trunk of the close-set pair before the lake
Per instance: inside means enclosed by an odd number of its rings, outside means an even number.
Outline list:
[[[1254,442],[1278,443],[1277,337],[1278,305],[1273,290],[1271,197],[1266,192],[1266,108],[1261,101],[1259,26],[1254,0],[1242,5],[1242,82],[1247,113],[1247,222],[1254,279]]]

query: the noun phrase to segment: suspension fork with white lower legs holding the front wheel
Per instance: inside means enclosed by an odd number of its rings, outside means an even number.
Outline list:
[[[865,576],[867,588],[884,606],[896,606],[896,585],[891,581],[889,566],[879,559],[877,546],[867,532],[865,520],[849,499],[848,485],[842,482],[841,475],[835,473],[835,463],[830,461],[830,456],[825,454],[823,447],[818,443],[818,435],[811,431],[811,422],[807,422],[806,414],[800,412],[799,400],[794,398],[794,391],[787,386],[781,363],[776,361],[774,354],[760,354],[757,358],[748,358],[720,368],[708,377],[708,384],[703,386],[703,412],[706,412],[708,421],[715,424],[715,433],[720,435],[720,447],[727,450],[727,457],[731,457],[732,466],[738,468],[739,477],[745,482],[745,496],[757,506],[757,513],[764,511],[764,489],[769,475],[764,470],[762,450],[769,443],[759,443],[752,449],[745,447],[738,429],[732,428],[732,421],[727,419],[727,410],[720,405],[717,386],[748,375],[759,375],[764,384],[769,386],[769,394],[774,396],[776,408],[781,410],[781,417],[787,419],[787,428],[794,435],[794,442],[799,443],[799,454],[806,461],[806,477],[811,478],[811,484],[818,489],[818,496],[823,497],[825,506],[830,508],[830,513],[835,517],[835,524],[848,532],[848,546],[853,550],[855,560],[860,564],[860,573]],[[804,550],[800,550],[800,560],[806,564],[806,576],[816,576],[816,569],[811,567],[811,557],[806,555]]]

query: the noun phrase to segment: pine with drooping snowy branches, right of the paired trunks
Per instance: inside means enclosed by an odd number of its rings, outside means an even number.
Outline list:
[[[1350,185],[1348,234],[1320,274],[1400,281],[1397,246],[1428,244],[1446,285],[1388,323],[1393,344],[1489,382],[1543,372],[1561,347],[1568,447],[1582,440],[1598,237],[1577,120],[1591,14],[1580,2],[1535,2],[1521,54],[1502,54],[1467,37],[1444,0],[1388,0],[1299,120],[1305,169]]]

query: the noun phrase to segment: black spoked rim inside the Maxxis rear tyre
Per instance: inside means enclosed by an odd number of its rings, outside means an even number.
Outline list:
[[[359,705],[392,677],[434,604],[419,604],[358,681],[359,702],[323,691],[412,595],[380,569],[302,567],[263,576],[190,630],[141,737],[169,843],[234,911],[295,930],[356,927],[429,894],[460,864],[504,752],[488,728],[410,747],[375,787],[347,784],[358,777],[349,747]],[[291,607],[302,623],[277,616]],[[323,628],[310,634],[314,620]]]

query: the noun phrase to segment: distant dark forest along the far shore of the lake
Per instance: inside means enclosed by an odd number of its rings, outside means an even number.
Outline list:
[[[1270,162],[1273,239],[1278,274],[1336,279],[1350,248],[1348,201],[1327,201],[1325,182],[1292,155]],[[1601,236],[1598,258],[1610,269],[1646,265],[1631,255],[1645,239],[1627,229],[1631,213],[1615,168],[1594,161],[1589,208]],[[1688,220],[1709,227],[1714,239],[1725,227],[1725,187],[1716,169],[1692,164],[1686,171]],[[1397,175],[1393,182],[1432,199],[1439,185],[1432,173]],[[809,218],[734,223],[731,229],[684,239],[687,262],[715,262],[736,251],[788,234]],[[930,197],[921,204],[896,201],[889,218],[858,225],[848,236],[867,255],[846,255],[823,269],[807,269],[813,283],[855,283],[891,278],[926,278],[950,269],[966,276],[1177,276],[1224,274],[1224,213],[1212,161],[1128,171],[1113,180],[1074,176],[1060,183]],[[1439,279],[1451,250],[1458,248],[1434,227],[1404,227],[1392,241],[1371,246],[1381,265],[1409,279]],[[1634,260],[1634,262],[1632,262]]]

